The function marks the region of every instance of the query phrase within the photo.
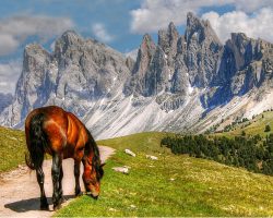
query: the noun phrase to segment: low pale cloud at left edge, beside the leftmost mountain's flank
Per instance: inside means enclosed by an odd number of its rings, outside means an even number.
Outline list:
[[[0,93],[14,94],[22,71],[22,60],[0,63]]]

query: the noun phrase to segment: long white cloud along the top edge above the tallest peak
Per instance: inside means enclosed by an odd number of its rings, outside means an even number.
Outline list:
[[[272,0],[143,0],[141,8],[131,11],[131,32],[154,33],[169,22],[183,25],[189,11],[199,13],[202,8],[233,4],[237,10],[253,12],[263,7],[273,7]]]

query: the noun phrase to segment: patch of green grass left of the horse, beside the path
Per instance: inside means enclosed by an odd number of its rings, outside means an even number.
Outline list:
[[[16,168],[25,160],[25,136],[23,131],[0,126],[0,172]]]

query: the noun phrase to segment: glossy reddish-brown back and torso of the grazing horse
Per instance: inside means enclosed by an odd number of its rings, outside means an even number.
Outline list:
[[[84,124],[71,112],[49,106],[34,109],[26,118],[26,138],[29,126],[36,116],[43,116],[43,132],[47,135],[51,152],[63,152],[64,157],[72,157],[76,147],[86,143],[88,135]]]

